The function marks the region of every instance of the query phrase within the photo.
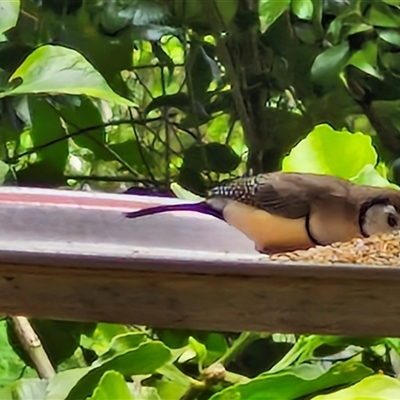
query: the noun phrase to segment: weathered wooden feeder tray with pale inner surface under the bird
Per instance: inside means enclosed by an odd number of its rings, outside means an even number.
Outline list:
[[[0,313],[225,331],[400,336],[400,268],[279,265],[171,199],[0,190]]]

